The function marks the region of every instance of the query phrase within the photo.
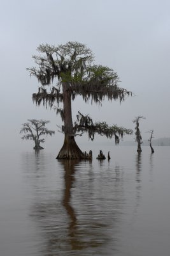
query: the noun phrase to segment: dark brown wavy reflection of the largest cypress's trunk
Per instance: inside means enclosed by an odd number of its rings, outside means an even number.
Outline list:
[[[74,188],[74,182],[75,182],[75,175],[76,170],[78,168],[81,168],[82,161],[78,160],[66,160],[66,161],[59,161],[59,163],[64,168],[64,182],[65,182],[65,188],[64,188],[64,195],[62,203],[64,205],[64,208],[66,209],[66,212],[69,216],[69,224],[68,224],[68,237],[67,242],[71,244],[71,250],[83,250],[87,248],[96,248],[101,246],[106,241],[106,234],[104,235],[103,232],[101,232],[106,228],[105,223],[97,223],[97,220],[93,220],[93,205],[92,208],[89,209],[89,212],[81,212],[81,214],[86,215],[87,219],[85,220],[85,223],[83,223],[83,220],[78,220],[76,216],[76,211],[74,210],[74,207],[72,205],[73,200],[73,191],[72,188]],[[89,163],[89,162],[88,162]],[[90,184],[89,184],[90,186]],[[82,189],[83,190],[83,189]],[[91,192],[90,192],[91,194]],[[81,197],[81,204],[85,202],[84,198],[85,194],[82,193]],[[71,203],[72,201],[72,203]],[[85,203],[84,203],[85,204]],[[80,206],[80,204],[79,204]],[[88,207],[88,206],[87,206]],[[78,209],[79,210],[79,209]],[[86,209],[87,211],[87,209]],[[89,219],[88,216],[91,216]],[[98,230],[98,232],[97,232]],[[101,238],[99,238],[101,236]]]

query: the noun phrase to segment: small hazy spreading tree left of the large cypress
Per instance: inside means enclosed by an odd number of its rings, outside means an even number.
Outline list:
[[[50,121],[36,119],[28,119],[28,121],[29,122],[22,124],[22,129],[20,130],[20,134],[25,134],[22,136],[22,140],[33,140],[35,143],[34,149],[43,149],[40,143],[44,143],[45,139],[40,138],[40,136],[52,136],[52,134],[55,133],[55,131],[48,130],[45,127]]]

